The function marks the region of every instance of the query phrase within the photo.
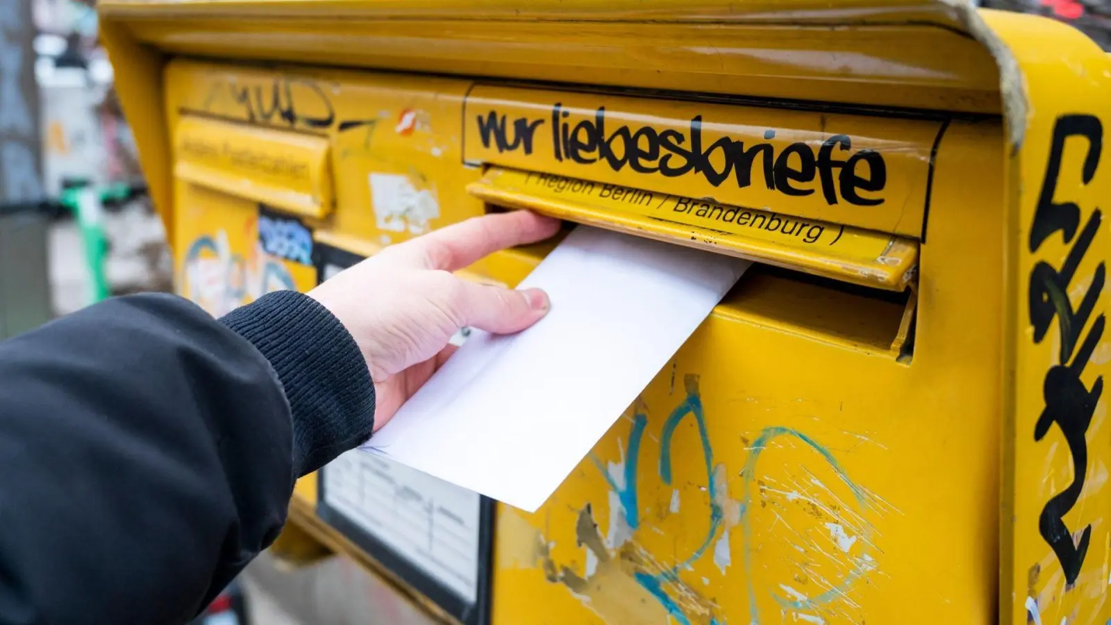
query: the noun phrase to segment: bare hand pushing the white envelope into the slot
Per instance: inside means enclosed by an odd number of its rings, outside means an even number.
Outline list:
[[[460,328],[512,334],[548,312],[540,289],[479,285],[451,272],[558,229],[558,220],[523,210],[477,217],[387,247],[309,291],[351,333],[367,359],[376,430],[454,351],[448,340]]]

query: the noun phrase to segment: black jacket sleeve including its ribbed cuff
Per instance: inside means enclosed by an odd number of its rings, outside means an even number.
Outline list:
[[[187,623],[373,405],[354,340],[292,291],[220,320],[121,297],[0,344],[0,623]]]

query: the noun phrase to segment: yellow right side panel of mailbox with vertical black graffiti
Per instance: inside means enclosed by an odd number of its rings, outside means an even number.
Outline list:
[[[1023,72],[1008,152],[1001,622],[1107,623],[1111,63],[1071,28],[985,14]]]

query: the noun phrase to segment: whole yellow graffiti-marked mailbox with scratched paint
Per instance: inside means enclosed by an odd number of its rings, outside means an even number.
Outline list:
[[[1111,62],[1080,32],[948,0],[100,10],[177,289],[213,314],[498,210],[755,262],[534,514],[358,452],[301,479],[287,534],[393,601],[1111,621]]]

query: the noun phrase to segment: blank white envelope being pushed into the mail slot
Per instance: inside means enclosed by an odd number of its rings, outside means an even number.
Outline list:
[[[473,330],[362,449],[534,512],[749,265],[579,226],[519,285],[548,316]]]

